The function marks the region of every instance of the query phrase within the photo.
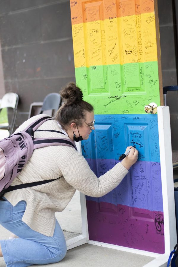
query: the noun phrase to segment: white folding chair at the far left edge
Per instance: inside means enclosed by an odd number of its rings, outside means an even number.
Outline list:
[[[15,120],[17,117],[17,106],[18,106],[18,94],[16,93],[6,93],[3,98],[1,99],[1,104],[0,104],[0,113],[1,110],[4,108],[10,108],[12,109],[12,118],[11,122],[8,122],[8,125],[2,125],[0,124],[0,130],[8,130],[9,135],[13,133],[14,125],[15,125]]]

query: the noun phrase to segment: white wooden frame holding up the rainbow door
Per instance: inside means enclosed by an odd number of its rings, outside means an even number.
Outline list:
[[[158,132],[159,132],[159,147],[160,147],[160,167],[163,195],[163,212],[164,212],[164,241],[165,253],[158,254],[139,249],[132,249],[98,241],[89,240],[88,237],[88,222],[85,195],[80,193],[80,204],[82,214],[82,235],[69,239],[67,241],[67,249],[71,249],[82,244],[88,243],[112,249],[118,249],[126,252],[136,253],[140,255],[154,257],[150,263],[144,267],[164,267],[167,266],[167,261],[171,250],[177,244],[176,233],[176,217],[174,204],[174,181],[172,168],[172,151],[171,151],[171,127],[170,115],[168,106],[158,107]],[[81,150],[81,142],[76,143],[78,151]]]

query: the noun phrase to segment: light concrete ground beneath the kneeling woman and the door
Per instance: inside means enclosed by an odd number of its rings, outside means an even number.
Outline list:
[[[77,191],[61,213],[55,214],[66,240],[82,233],[82,220],[80,210],[80,194]],[[72,223],[71,223],[72,222]],[[10,233],[0,226],[0,239],[8,239]],[[66,257],[59,263],[41,265],[49,267],[142,267],[153,258],[116,249],[109,249],[90,244],[84,244],[67,251]],[[0,258],[0,267],[5,267],[3,258]],[[39,265],[33,265],[39,266]],[[154,267],[154,266],[153,266]]]

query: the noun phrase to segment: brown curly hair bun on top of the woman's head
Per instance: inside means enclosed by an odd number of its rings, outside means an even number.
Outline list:
[[[71,105],[75,102],[80,102],[83,99],[82,91],[74,82],[66,84],[66,86],[62,88],[60,94],[65,105]]]

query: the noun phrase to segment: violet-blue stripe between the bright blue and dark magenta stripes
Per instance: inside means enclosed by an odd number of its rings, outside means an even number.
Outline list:
[[[112,169],[115,160],[87,159],[87,162],[99,177]],[[160,173],[160,163],[137,161],[129,170],[129,174],[112,192],[101,198],[86,196],[86,199],[163,212]]]

